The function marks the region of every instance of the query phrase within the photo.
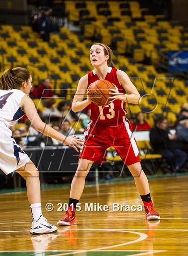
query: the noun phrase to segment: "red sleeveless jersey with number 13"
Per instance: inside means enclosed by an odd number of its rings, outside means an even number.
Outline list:
[[[120,85],[118,81],[116,68],[109,67],[107,75],[104,79],[115,84],[120,93],[125,93],[124,88]],[[89,87],[91,83],[97,80],[99,80],[99,78],[94,70],[88,73],[87,87]],[[109,94],[109,96],[113,95]],[[90,106],[90,119],[94,122],[97,122],[97,124],[100,125],[117,125],[118,120],[122,120],[122,117],[124,117],[127,114],[127,110],[125,109],[125,102],[121,101],[120,99],[116,99],[115,101],[111,102],[109,105],[106,105],[104,107],[97,106],[94,103],[91,103]]]

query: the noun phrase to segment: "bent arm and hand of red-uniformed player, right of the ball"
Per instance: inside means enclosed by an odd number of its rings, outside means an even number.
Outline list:
[[[127,93],[126,94],[120,93],[118,91],[118,88],[115,86],[115,89],[110,89],[111,93],[109,94],[111,94],[111,97],[109,97],[109,99],[111,99],[111,101],[114,101],[115,99],[120,99],[125,102],[133,103],[133,104],[141,103],[141,95],[139,94],[135,85],[132,84],[128,75],[124,71],[118,69],[117,78]]]

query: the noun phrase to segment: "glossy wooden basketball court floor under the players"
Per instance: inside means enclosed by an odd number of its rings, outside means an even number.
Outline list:
[[[150,180],[154,207],[161,220],[146,221],[141,211],[112,211],[112,203],[142,205],[132,181],[86,186],[77,212],[78,225],[54,234],[30,235],[26,192],[0,195],[0,256],[188,256],[188,177]],[[56,225],[69,188],[42,191],[43,215]],[[45,205],[53,203],[54,210]],[[85,211],[99,202],[109,211]]]

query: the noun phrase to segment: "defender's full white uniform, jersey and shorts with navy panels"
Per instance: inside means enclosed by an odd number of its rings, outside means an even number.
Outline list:
[[[0,90],[0,169],[9,174],[25,166],[30,158],[11,137],[10,126],[25,115],[20,103],[24,92],[21,90]]]

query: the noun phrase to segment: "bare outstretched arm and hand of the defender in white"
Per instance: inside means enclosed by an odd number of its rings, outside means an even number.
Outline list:
[[[36,130],[46,136],[62,141],[64,144],[73,147],[77,152],[77,147],[81,148],[80,145],[84,142],[82,139],[76,139],[76,135],[65,137],[63,134],[56,131],[51,126],[45,124],[38,116],[32,99],[30,99],[28,96],[24,96],[21,99],[21,108],[26,113],[26,116]]]

